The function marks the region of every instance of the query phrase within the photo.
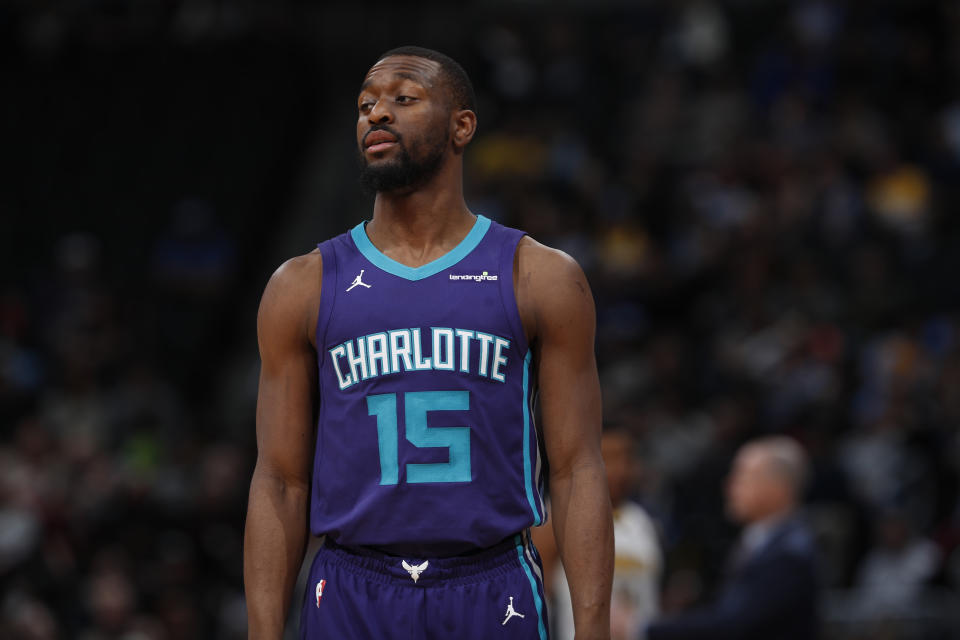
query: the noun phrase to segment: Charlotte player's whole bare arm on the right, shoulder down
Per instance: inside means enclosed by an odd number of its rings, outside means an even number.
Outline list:
[[[576,637],[609,638],[613,521],[600,456],[593,295],[580,266],[560,251],[524,238],[517,263],[517,299],[537,355],[553,530]]]

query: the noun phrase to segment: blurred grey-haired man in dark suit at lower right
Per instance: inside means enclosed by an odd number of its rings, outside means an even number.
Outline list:
[[[817,636],[816,553],[796,513],[806,456],[790,438],[744,445],[727,484],[744,525],[712,605],[651,624],[646,640],[811,640]]]

